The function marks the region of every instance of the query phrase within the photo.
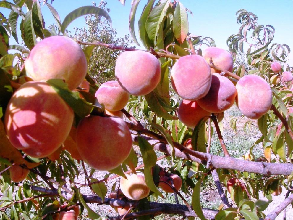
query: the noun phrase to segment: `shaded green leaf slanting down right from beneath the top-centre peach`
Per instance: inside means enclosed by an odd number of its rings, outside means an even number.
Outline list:
[[[158,117],[165,118],[166,120],[176,120],[178,119],[175,116],[170,115],[160,104],[158,98],[154,91],[150,92],[149,94],[145,95],[145,99],[148,102],[148,105],[152,111],[154,111]]]

